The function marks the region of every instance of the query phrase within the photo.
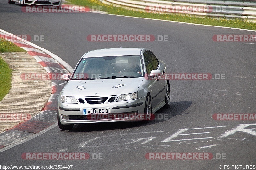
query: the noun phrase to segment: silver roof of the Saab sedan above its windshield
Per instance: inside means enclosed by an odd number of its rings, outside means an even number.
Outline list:
[[[143,48],[106,48],[87,52],[83,58],[88,57],[104,57],[104,56],[124,56],[124,55],[140,55]]]

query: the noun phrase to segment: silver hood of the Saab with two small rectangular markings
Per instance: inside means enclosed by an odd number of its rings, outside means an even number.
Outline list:
[[[144,77],[100,80],[72,80],[64,87],[62,96],[115,96],[134,93]]]

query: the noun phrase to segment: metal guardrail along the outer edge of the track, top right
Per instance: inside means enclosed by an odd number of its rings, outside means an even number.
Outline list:
[[[256,0],[100,0],[105,4],[122,6],[152,13],[186,13],[198,16],[243,18],[256,22]],[[178,2],[177,2],[178,1]]]

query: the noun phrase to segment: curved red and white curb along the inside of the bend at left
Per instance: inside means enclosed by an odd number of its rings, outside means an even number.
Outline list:
[[[0,30],[0,36],[11,36],[15,40],[12,42],[20,48],[25,49],[29,55],[34,57],[36,61],[44,67],[47,73],[65,74],[73,72],[73,68],[71,66],[44,48],[25,41],[20,37],[5,32],[4,30]],[[58,79],[51,81],[52,94],[42,111],[34,116],[36,118],[34,119],[32,117],[31,119],[21,122],[17,126],[0,133],[0,152],[5,149],[4,147],[15,144],[28,137],[32,137],[40,131],[45,131],[45,129],[49,129],[50,126],[57,122],[58,96],[67,82]]]

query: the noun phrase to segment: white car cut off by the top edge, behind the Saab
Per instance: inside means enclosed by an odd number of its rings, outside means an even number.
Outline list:
[[[17,2],[19,6],[23,5],[44,5],[44,6],[57,6],[61,7],[62,0],[8,0],[9,4],[15,4]]]

